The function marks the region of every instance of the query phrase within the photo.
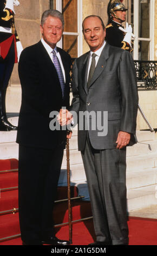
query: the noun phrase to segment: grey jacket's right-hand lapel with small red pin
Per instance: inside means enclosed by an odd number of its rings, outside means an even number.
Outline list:
[[[97,78],[101,75],[102,71],[104,70],[106,64],[107,64],[107,59],[109,57],[109,45],[106,43],[104,46],[99,61],[97,62],[93,77],[91,78],[89,87],[92,86],[92,84],[97,80]]]

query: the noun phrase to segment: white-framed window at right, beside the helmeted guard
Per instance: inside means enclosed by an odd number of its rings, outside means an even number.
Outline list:
[[[154,0],[132,0],[134,59],[154,59]]]

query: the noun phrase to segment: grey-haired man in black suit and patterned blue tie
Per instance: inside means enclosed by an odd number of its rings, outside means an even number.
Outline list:
[[[45,11],[42,39],[23,50],[18,65],[19,222],[24,245],[68,244],[55,237],[52,217],[67,131],[49,127],[50,112],[69,107],[71,58],[56,47],[63,27],[59,11]]]

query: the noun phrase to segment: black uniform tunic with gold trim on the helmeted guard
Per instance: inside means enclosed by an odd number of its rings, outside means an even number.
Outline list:
[[[122,32],[119,27],[122,27],[119,23],[112,21],[106,26],[106,41],[109,45],[120,47],[127,51],[132,51],[130,45],[123,41],[125,32]],[[123,27],[122,27],[123,28]]]

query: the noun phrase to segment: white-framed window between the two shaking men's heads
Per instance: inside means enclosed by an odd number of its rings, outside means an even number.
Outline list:
[[[55,4],[56,3],[56,4]],[[82,0],[50,0],[50,8],[64,16],[64,32],[57,46],[67,51],[71,58],[82,55]]]

